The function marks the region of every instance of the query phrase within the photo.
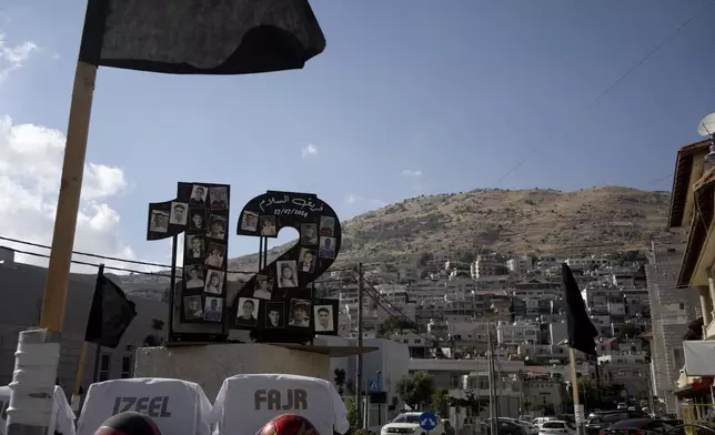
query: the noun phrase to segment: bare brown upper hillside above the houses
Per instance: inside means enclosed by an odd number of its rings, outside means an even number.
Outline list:
[[[669,192],[616,186],[421,195],[343,222],[336,265],[399,263],[425,252],[578,255],[642,250],[651,241],[684,243],[682,232],[665,227],[669,198]],[[229,267],[253,270],[256,262],[256,255],[246,255],[232,259]]]

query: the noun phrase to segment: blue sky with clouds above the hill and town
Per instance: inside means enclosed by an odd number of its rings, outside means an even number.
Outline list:
[[[51,242],[84,6],[0,3],[1,236]],[[477,188],[669,190],[715,111],[715,1],[311,6],[328,47],[303,70],[99,70],[75,250],[169,262],[147,210],[178,181],[231,184],[231,226],[266,190],[316,193],[343,220]]]

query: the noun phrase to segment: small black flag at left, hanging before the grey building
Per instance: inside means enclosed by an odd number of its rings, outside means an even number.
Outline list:
[[[124,331],[135,316],[134,303],[127,299],[124,292],[112,280],[104,276],[104,267],[100,266],[84,341],[117,348]]]

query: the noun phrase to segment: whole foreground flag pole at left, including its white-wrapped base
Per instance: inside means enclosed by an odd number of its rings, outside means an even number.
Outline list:
[[[77,62],[40,327],[20,332],[6,435],[42,435],[50,425],[54,383],[43,380],[54,380],[59,366],[95,79],[95,65]]]

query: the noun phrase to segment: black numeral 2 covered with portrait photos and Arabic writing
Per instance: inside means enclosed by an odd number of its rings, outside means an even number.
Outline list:
[[[338,301],[320,300],[311,283],[335,261],[342,231],[334,210],[312,193],[268,191],[244,205],[238,234],[276,237],[299,231],[296,243],[241,287],[231,327],[250,330],[256,342],[304,343],[338,333]]]

